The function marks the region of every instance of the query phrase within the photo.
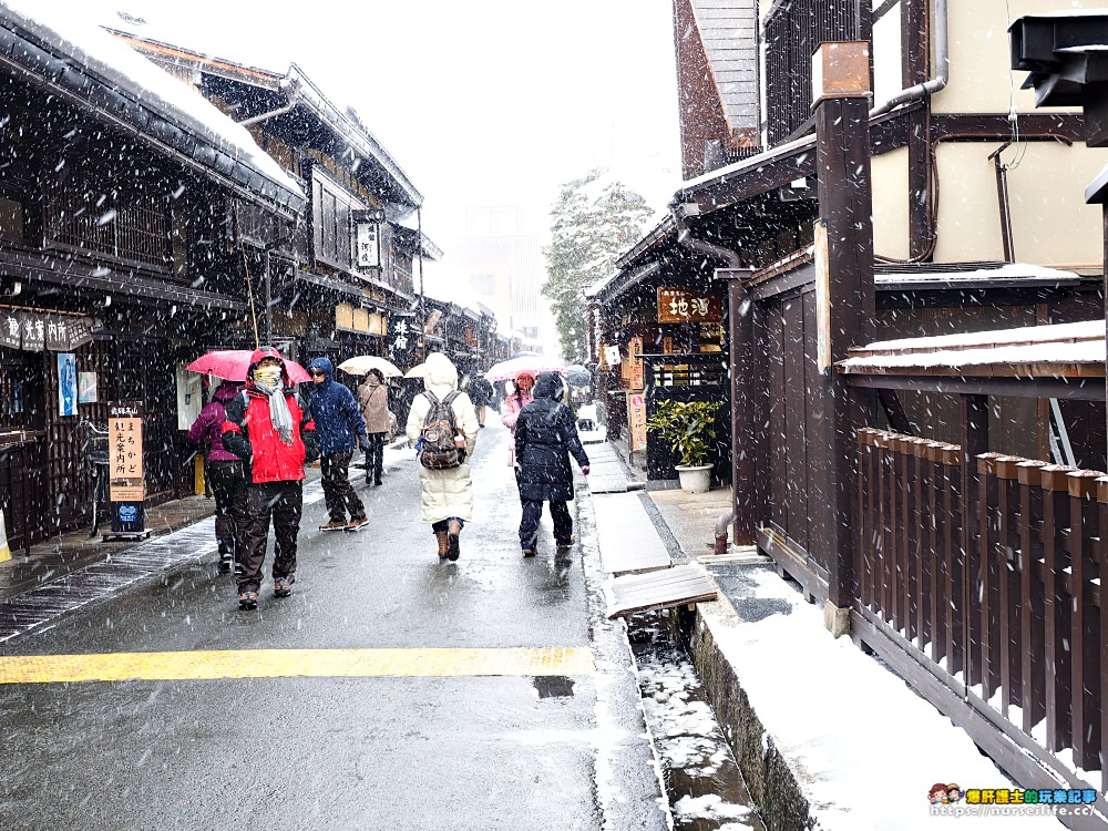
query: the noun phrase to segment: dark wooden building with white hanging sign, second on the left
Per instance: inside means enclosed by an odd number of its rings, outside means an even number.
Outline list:
[[[261,70],[188,44],[114,33],[249,130],[310,195],[305,222],[284,237],[256,213],[239,217],[246,259],[266,298],[261,339],[304,360],[387,356],[390,327],[401,318],[410,324],[419,305],[422,260],[442,253],[409,227],[419,226],[423,196],[358,114],[339,110],[296,64]],[[391,356],[403,368],[422,353],[421,328],[413,351]],[[230,337],[253,342],[254,332]]]

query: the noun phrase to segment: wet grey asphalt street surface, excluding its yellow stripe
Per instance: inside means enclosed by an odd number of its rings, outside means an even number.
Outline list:
[[[3,655],[587,647],[595,674],[0,686],[0,827],[666,828],[630,656],[603,619],[587,491],[568,564],[548,516],[523,560],[506,442],[481,431],[458,563],[437,557],[414,459],[397,452],[384,486],[358,484],[371,524],[357,534],[317,532],[326,511],[306,490],[293,597],[267,584],[239,612],[205,555]]]

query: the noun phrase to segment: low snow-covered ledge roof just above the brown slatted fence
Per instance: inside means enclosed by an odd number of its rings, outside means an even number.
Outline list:
[[[1105,321],[882,340],[838,363],[855,375],[1102,377]]]

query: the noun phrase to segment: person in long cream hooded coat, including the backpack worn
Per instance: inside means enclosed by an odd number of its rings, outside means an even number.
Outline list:
[[[473,516],[469,460],[478,441],[478,417],[458,388],[458,370],[442,352],[422,366],[424,391],[408,411],[408,439],[419,458],[420,516],[430,523],[440,560],[458,560],[459,535]]]

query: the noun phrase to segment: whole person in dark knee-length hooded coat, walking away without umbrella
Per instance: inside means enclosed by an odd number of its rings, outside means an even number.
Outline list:
[[[551,503],[554,542],[560,548],[573,545],[573,520],[566,502],[573,499],[573,469],[570,455],[581,472],[588,475],[588,456],[581,447],[577,427],[570,408],[557,399],[564,392],[562,379],[543,372],[535,381],[535,400],[520,411],[515,422],[515,463],[520,468],[520,545],[523,556],[534,556],[538,547],[538,521],[543,502]]]

